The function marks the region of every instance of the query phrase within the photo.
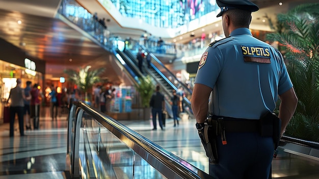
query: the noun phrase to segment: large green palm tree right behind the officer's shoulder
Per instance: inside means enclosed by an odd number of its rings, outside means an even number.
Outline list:
[[[298,97],[296,112],[285,135],[319,142],[319,3],[302,4],[278,14],[278,41]]]

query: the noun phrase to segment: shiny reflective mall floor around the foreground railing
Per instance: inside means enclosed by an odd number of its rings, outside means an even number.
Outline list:
[[[19,136],[17,121],[13,138],[9,137],[9,123],[0,124],[0,179],[70,178],[68,172],[65,172],[68,170],[66,114],[52,121],[47,108],[41,113],[39,130],[25,131],[23,137]],[[152,131],[151,120],[120,122],[208,172],[208,160],[199,141],[194,119],[181,120],[176,127],[173,127],[172,119],[167,119],[164,131]],[[318,161],[281,151],[273,161],[273,178],[319,178],[318,169]],[[139,173],[140,178],[153,178],[143,175],[143,171],[141,168],[135,172]]]

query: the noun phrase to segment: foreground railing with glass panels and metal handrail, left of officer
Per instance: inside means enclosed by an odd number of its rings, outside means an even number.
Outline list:
[[[212,178],[87,104],[79,101],[74,106],[74,132],[68,133],[74,133],[72,177]]]

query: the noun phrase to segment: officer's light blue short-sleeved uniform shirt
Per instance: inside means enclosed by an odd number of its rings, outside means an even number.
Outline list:
[[[245,119],[273,112],[278,94],[293,87],[279,51],[254,38],[247,28],[209,45],[195,84],[213,89],[210,114]]]

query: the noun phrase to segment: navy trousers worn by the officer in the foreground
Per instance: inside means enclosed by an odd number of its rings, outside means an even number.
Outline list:
[[[273,159],[272,137],[259,133],[226,133],[227,144],[217,136],[219,164],[209,164],[209,174],[216,178],[268,179]]]

